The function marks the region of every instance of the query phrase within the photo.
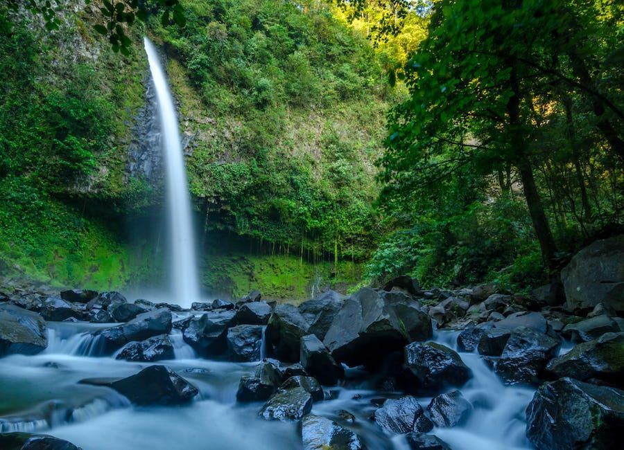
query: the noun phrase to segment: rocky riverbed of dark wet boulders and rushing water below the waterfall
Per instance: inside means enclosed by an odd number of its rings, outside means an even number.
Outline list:
[[[553,290],[399,277],[298,306],[253,291],[191,309],[0,294],[0,447],[616,448],[618,291],[592,305]]]

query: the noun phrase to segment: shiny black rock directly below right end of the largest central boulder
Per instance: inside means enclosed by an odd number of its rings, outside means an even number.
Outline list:
[[[401,384],[408,392],[431,392],[445,386],[462,386],[471,370],[450,348],[435,342],[414,342],[405,348],[406,370]]]

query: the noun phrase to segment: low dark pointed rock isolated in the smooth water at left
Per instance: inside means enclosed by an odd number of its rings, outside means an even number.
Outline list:
[[[112,382],[110,387],[141,406],[184,404],[199,393],[195,386],[165,366],[149,366]]]

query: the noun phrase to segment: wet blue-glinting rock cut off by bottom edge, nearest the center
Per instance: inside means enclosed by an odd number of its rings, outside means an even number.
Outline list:
[[[353,431],[320,415],[308,414],[302,420],[301,437],[304,450],[363,450]]]

